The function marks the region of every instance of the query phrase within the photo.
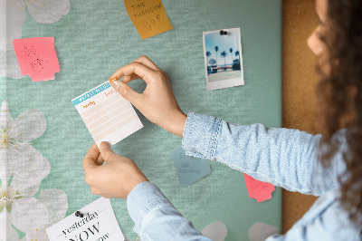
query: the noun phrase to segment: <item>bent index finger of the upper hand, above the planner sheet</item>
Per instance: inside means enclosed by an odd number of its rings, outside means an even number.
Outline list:
[[[142,63],[133,62],[129,65],[120,67],[116,72],[110,75],[110,81],[114,80],[115,78],[119,80],[123,76],[131,75],[133,73],[137,74],[139,78],[148,83],[152,80],[152,77],[155,75],[156,72],[148,68],[148,66],[143,65]]]

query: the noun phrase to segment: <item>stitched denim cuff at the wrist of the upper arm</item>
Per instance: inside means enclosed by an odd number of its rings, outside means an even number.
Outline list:
[[[189,112],[182,140],[186,155],[213,160],[221,121],[219,118]]]

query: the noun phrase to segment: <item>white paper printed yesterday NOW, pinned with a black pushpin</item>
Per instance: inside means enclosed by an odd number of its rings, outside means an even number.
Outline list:
[[[75,213],[46,229],[51,241],[103,241],[125,240],[119,223],[114,216],[110,199],[99,198],[79,210],[83,217]]]

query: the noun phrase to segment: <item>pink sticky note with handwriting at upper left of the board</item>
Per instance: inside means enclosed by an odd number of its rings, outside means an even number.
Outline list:
[[[33,82],[54,80],[61,71],[53,37],[14,39],[13,45],[20,71]]]

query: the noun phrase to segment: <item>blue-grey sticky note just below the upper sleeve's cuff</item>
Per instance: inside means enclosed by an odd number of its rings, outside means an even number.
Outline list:
[[[186,151],[182,147],[172,150],[172,156],[181,188],[186,188],[191,183],[211,173],[208,159],[186,156]]]

